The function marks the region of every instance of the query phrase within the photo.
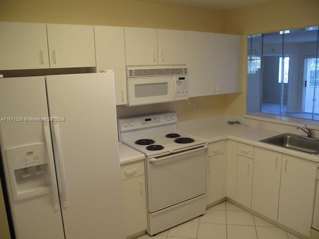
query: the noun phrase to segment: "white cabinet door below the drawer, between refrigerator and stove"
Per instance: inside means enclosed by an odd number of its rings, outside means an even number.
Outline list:
[[[122,181],[125,235],[131,236],[148,228],[145,175]]]

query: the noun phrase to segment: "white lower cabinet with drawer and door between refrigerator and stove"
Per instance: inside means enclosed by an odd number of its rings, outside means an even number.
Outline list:
[[[144,160],[121,165],[126,237],[148,228]]]

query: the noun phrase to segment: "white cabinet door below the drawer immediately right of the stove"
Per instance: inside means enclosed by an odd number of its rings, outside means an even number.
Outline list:
[[[208,157],[206,205],[223,198],[224,154]]]

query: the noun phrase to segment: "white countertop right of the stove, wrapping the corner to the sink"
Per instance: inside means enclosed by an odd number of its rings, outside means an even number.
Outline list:
[[[202,122],[201,120],[198,120],[197,122],[196,120],[192,120],[191,123],[186,124],[183,123],[178,126],[178,130],[195,135],[197,137],[202,137],[206,139],[208,143],[223,139],[232,139],[235,141],[240,141],[254,146],[259,146],[319,162],[319,155],[312,155],[293,149],[259,142],[259,140],[261,139],[285,133],[284,131],[274,131],[259,127],[245,126],[241,124],[227,124],[226,121],[207,123],[207,121]]]

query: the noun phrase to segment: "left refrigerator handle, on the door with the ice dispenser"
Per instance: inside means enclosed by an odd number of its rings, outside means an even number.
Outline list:
[[[48,154],[48,166],[51,175],[51,187],[52,187],[52,197],[53,197],[53,208],[54,211],[59,210],[59,195],[58,195],[58,188],[56,185],[56,177],[54,171],[54,159],[53,159],[53,150],[50,138],[50,129],[49,123],[47,121],[43,121],[43,130],[44,130],[44,138],[45,138],[45,145]]]

